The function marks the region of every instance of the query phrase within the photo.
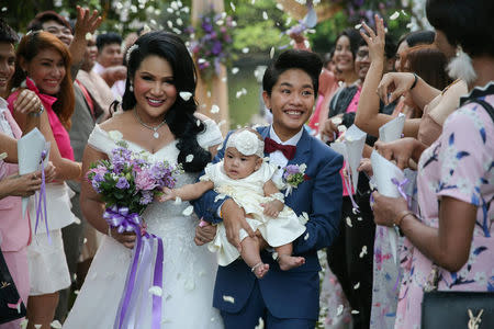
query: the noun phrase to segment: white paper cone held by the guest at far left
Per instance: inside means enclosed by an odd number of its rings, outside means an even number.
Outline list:
[[[41,155],[45,147],[45,137],[37,128],[18,140],[19,174],[26,174],[38,169]],[[29,196],[22,197],[22,218],[25,216],[29,202]]]

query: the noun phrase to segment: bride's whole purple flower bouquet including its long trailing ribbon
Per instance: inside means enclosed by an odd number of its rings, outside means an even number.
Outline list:
[[[106,204],[103,214],[110,227],[119,232],[134,231],[136,243],[133,249],[128,268],[126,286],[122,294],[114,328],[127,328],[136,324],[137,308],[132,307],[132,300],[153,299],[153,328],[161,324],[161,291],[162,291],[162,240],[145,230],[141,218],[142,213],[155,196],[162,194],[162,188],[173,189],[176,175],[182,171],[181,166],[170,166],[166,161],[151,162],[145,151],[134,152],[121,139],[117,132],[110,132],[110,137],[116,143],[110,160],[91,163],[87,179],[92,188],[101,194]],[[120,137],[120,138],[119,138]],[[151,250],[151,252],[146,252]],[[150,276],[149,271],[154,274]],[[148,290],[135,290],[136,283]],[[149,294],[149,292],[154,292]],[[142,319],[144,321],[144,319]],[[137,328],[142,328],[137,324]]]

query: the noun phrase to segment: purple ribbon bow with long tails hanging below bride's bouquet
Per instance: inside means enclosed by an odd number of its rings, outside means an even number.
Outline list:
[[[145,280],[146,271],[149,270],[146,264],[151,265],[151,251],[154,249],[154,242],[157,241],[157,252],[154,262],[154,276],[153,285],[161,288],[162,291],[162,240],[161,238],[148,234],[143,230],[142,218],[136,213],[130,213],[128,207],[117,207],[116,205],[106,208],[103,218],[111,226],[122,234],[125,231],[134,231],[137,238],[137,242],[133,250],[131,268],[127,272],[125,281],[125,290],[120,300],[119,313],[115,318],[113,328],[130,328],[134,327],[134,314],[132,313],[132,296],[134,293],[134,286],[136,283],[141,283]],[[139,265],[144,264],[144,266]],[[147,294],[148,292],[144,292]],[[153,294],[153,319],[151,328],[159,329],[161,326],[161,295]]]

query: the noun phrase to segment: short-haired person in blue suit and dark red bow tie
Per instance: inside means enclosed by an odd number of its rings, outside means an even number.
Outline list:
[[[314,328],[317,321],[321,270],[317,250],[329,247],[338,234],[343,166],[340,155],[310,136],[303,127],[317,97],[322,65],[314,53],[282,53],[262,79],[262,97],[272,112],[273,123],[257,129],[269,145],[265,151],[271,163],[280,168],[306,164],[306,180],[285,197],[285,204],[297,215],[308,215],[306,231],[293,242],[293,254],[304,257],[305,264],[282,271],[273,254],[263,250],[261,259],[269,264],[269,272],[260,280],[242,259],[218,266],[213,306],[221,310],[225,328],[252,329],[259,318],[269,329]],[[214,162],[223,156],[221,149]],[[238,231],[243,228],[250,236],[255,232],[233,200],[215,200],[216,195],[210,191],[194,202],[195,212],[213,224],[223,220],[229,242],[242,248]],[[212,239],[211,234],[207,237],[212,228],[198,228],[198,245]]]

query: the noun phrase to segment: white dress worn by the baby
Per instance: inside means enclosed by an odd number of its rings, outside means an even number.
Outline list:
[[[238,206],[245,209],[246,214],[254,217],[246,217],[252,230],[259,230],[269,246],[280,247],[300,237],[305,231],[305,226],[302,224],[303,219],[299,219],[292,208],[287,205],[276,218],[263,214],[265,208],[261,204],[274,200],[271,196],[265,196],[263,185],[272,178],[276,171],[276,166],[265,161],[259,170],[250,175],[233,180],[226,175],[223,169],[223,161],[220,161],[209,164],[205,168],[205,174],[200,180],[214,183],[214,191],[220,194],[217,198],[226,195],[232,197]],[[247,232],[242,229],[240,240],[247,236]],[[226,266],[240,256],[237,248],[228,242],[225,226],[222,223],[217,225],[216,236],[207,245],[207,248],[216,252],[217,263],[222,266]]]

